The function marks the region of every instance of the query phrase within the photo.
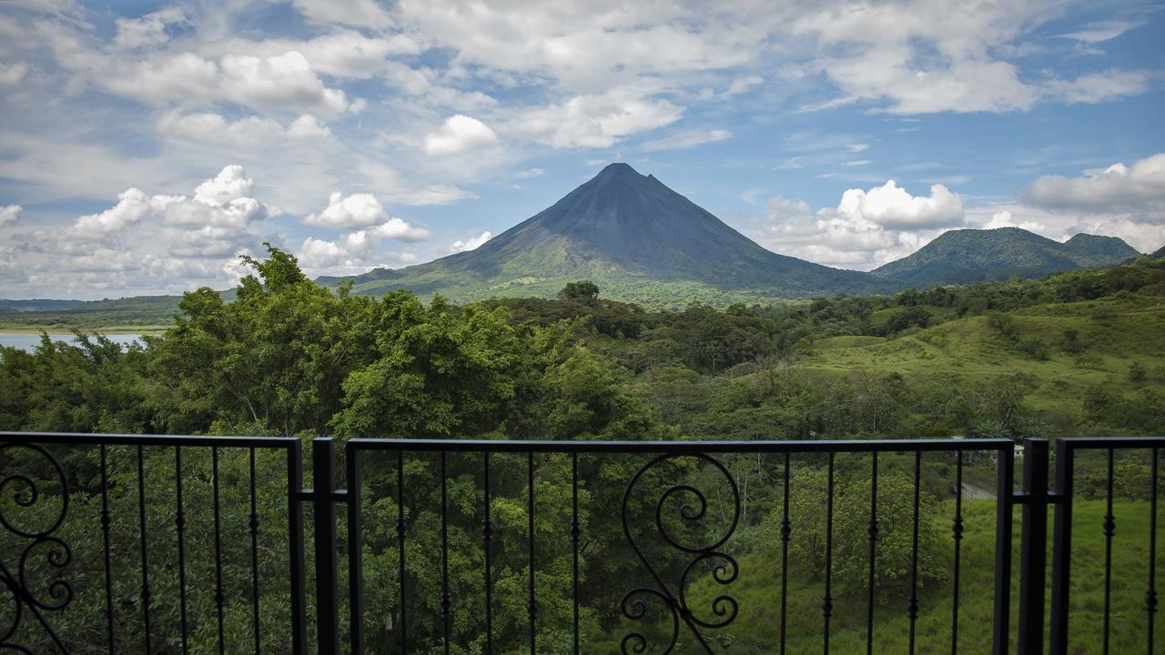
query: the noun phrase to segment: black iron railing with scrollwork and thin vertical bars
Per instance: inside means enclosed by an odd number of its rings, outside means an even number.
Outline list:
[[[589,510],[619,515],[622,528],[620,541],[628,549],[628,561],[637,564],[637,570],[645,580],[626,580],[626,589],[607,590],[617,591],[614,597],[592,594],[592,599],[619,599],[612,600],[612,607],[607,607],[609,614],[617,619],[608,621],[614,626],[608,627],[623,635],[616,640],[616,648],[623,653],[725,652],[726,648],[716,641],[715,635],[734,624],[742,610],[737,599],[727,590],[741,576],[741,564],[737,562],[733,540],[742,522],[742,505],[747,508],[742,503],[741,487],[733,470],[735,460],[732,458],[749,456],[763,459],[765,470],[772,473],[769,483],[782,488],[779,500],[772,508],[774,516],[779,516],[776,522],[776,535],[781,542],[777,549],[781,571],[779,608],[775,612],[771,625],[772,645],[768,652],[786,652],[790,618],[804,612],[804,607],[789,606],[790,542],[799,528],[790,514],[790,498],[798,494],[797,477],[791,465],[820,470],[827,484],[825,506],[820,508],[825,516],[821,544],[824,575],[820,580],[822,593],[818,607],[821,648],[825,653],[829,652],[831,622],[838,612],[835,604],[843,600],[847,612],[863,612],[866,632],[862,649],[873,654],[880,652],[875,640],[878,620],[895,614],[905,617],[906,650],[915,653],[918,648],[916,628],[920,604],[924,601],[919,591],[919,531],[920,523],[927,520],[920,516],[923,470],[924,464],[941,463],[944,466],[953,466],[948,516],[952,559],[951,576],[946,583],[951,603],[951,653],[962,648],[962,542],[968,534],[963,512],[965,473],[974,465],[980,473],[984,466],[994,467],[989,478],[991,488],[980,490],[989,491],[988,495],[994,496],[995,505],[994,524],[989,527],[994,530],[991,652],[1009,653],[1014,649],[1025,654],[1043,653],[1047,635],[1050,652],[1066,655],[1072,650],[1068,583],[1073,564],[1073,471],[1079,452],[1100,450],[1107,457],[1103,480],[1107,488],[1107,512],[1102,526],[1106,543],[1104,572],[1100,580],[1104,599],[1104,653],[1109,653],[1111,648],[1110,585],[1113,540],[1116,534],[1113,498],[1114,481],[1120,483],[1114,469],[1114,452],[1151,453],[1151,473],[1146,481],[1150,488],[1144,490],[1150,505],[1144,646],[1152,654],[1157,611],[1157,498],[1160,493],[1157,478],[1159,449],[1163,446],[1165,438],[1162,437],[1060,438],[1055,441],[1055,457],[1050,459],[1048,443],[1042,439],[1028,439],[1022,453],[1017,453],[1015,444],[1008,439],[348,439],[343,444],[341,459],[338,457],[336,442],[324,438],[315,439],[311,444],[312,487],[308,488],[303,480],[301,442],[296,438],[0,432],[0,526],[3,528],[0,530],[0,537],[3,537],[0,541],[0,589],[6,589],[9,597],[3,601],[7,605],[0,603],[0,652],[9,649],[33,653],[51,648],[62,653],[186,653],[195,645],[200,647],[199,650],[209,647],[217,648],[219,653],[411,653],[429,652],[431,648],[450,653],[453,647],[467,647],[465,643],[454,643],[454,617],[460,613],[463,617],[469,615],[475,621],[473,626],[475,629],[480,628],[481,633],[481,639],[468,648],[494,653],[502,648],[497,643],[500,610],[495,599],[496,561],[501,555],[510,561],[524,559],[523,650],[528,649],[531,654],[548,652],[549,647],[539,638],[551,631],[565,631],[570,652],[601,652],[588,648],[589,635],[585,634],[580,625],[584,586],[580,559],[586,559],[580,550],[582,543],[594,536],[586,534],[587,527],[580,521],[580,488],[592,492],[600,488],[596,485],[613,484],[619,484],[622,488],[621,506],[591,507]],[[127,471],[122,462],[116,481],[111,479],[111,456],[114,451],[130,464]],[[207,451],[210,460],[204,462]],[[256,464],[256,452],[269,455]],[[203,459],[192,463],[191,458],[197,458],[196,453]],[[846,458],[850,478],[854,477],[852,471],[855,465],[868,466],[868,516],[863,519],[864,534],[860,536],[835,534],[835,465],[839,457]],[[1014,469],[1017,457],[1023,460],[1022,491],[1015,490]],[[546,481],[570,485],[570,508],[565,517],[555,515],[551,519],[563,521],[563,524],[557,526],[559,530],[555,538],[560,538],[560,543],[555,548],[565,548],[570,562],[570,584],[565,592],[569,611],[564,613],[564,625],[544,625],[545,620],[539,613],[541,603],[560,591],[546,591],[538,585],[538,572],[548,565],[546,556],[539,552],[539,548],[545,549],[548,544],[545,538],[536,538],[536,523],[542,520],[537,488],[539,481],[544,481],[550,474],[542,471],[543,465],[553,458],[564,464],[553,469],[560,471],[562,477]],[[496,472],[501,460],[506,463],[506,477],[502,479]],[[165,462],[164,467],[170,471],[154,471],[160,462]],[[337,480],[338,462],[343,462],[343,487],[338,486]],[[600,480],[593,474],[593,465],[598,462],[634,465],[623,469],[626,474],[617,481],[609,478]],[[686,466],[682,466],[684,463]],[[895,527],[888,526],[887,520],[878,515],[880,502],[885,500],[884,491],[882,501],[878,499],[880,465],[883,471],[887,465],[905,471],[903,474],[911,481],[911,547],[909,568],[901,590],[902,598],[898,599],[901,605],[881,605],[875,598],[878,586],[878,547],[885,530]],[[220,479],[227,474],[220,471],[220,466],[227,467],[235,478],[227,490],[232,494],[231,499],[220,495],[226,493]],[[411,466],[418,469],[412,471]],[[1053,471],[1054,486],[1048,490]],[[424,477],[426,474],[428,478]],[[426,481],[416,484],[418,476]],[[859,476],[864,479],[861,476],[864,473]],[[451,508],[450,490],[454,477],[471,480],[478,486],[468,501],[464,485],[458,486],[463,491],[458,492],[460,495],[456,500],[457,507]],[[983,479],[979,477],[976,480],[983,484]],[[136,487],[135,493],[127,485]],[[158,485],[167,488],[163,491]],[[507,488],[509,501],[521,501],[524,506],[524,526],[515,527],[508,520],[507,524],[513,533],[509,535],[499,531],[497,517],[492,514],[495,493],[502,485]],[[190,521],[195,517],[190,514],[193,507],[189,496],[191,490],[199,493],[205,491],[207,494],[200,502],[209,505],[210,516],[197,516],[206,523],[199,531],[202,540],[189,536]],[[652,492],[647,499],[643,498],[645,491]],[[73,495],[78,496],[86,515],[82,515],[79,509],[70,515],[73,507],[70,499]],[[165,507],[160,509],[151,503],[151,495],[155,499],[164,496]],[[116,499],[121,499],[123,506],[136,505],[136,526],[116,523],[116,510],[113,507]],[[172,507],[168,502],[170,499],[174,500]],[[48,520],[43,520],[44,512],[41,512],[42,522],[38,527],[29,528],[21,523],[21,520],[37,516],[38,503],[45,502],[50,503],[48,514],[51,516]],[[423,503],[426,510],[433,513],[432,535],[422,537],[416,531],[416,526],[411,524],[418,516],[416,508],[411,507],[414,503]],[[430,503],[437,507],[428,507]],[[276,514],[268,510],[270,505],[278,506]],[[395,519],[395,524],[387,530],[379,523],[374,526],[380,530],[375,544],[366,543],[368,526],[365,521],[370,505],[377,507],[381,519],[384,512],[381,508],[395,508],[391,512],[395,516],[389,519]],[[309,524],[303,520],[304,506],[312,512]],[[1012,514],[1016,506],[1022,507],[1023,513],[1016,578],[1017,625],[1014,631],[1012,577],[1016,571],[1012,565]],[[1054,507],[1054,522],[1048,570],[1046,543],[1050,506]],[[343,521],[338,509],[344,513]],[[22,513],[21,520],[17,520],[16,513]],[[277,520],[271,521],[277,523],[276,529],[273,530],[261,521],[261,514],[268,516],[268,520],[277,516]],[[480,530],[480,545],[475,547],[479,550],[474,555],[474,558],[480,557],[481,564],[480,593],[476,590],[467,593],[463,589],[464,583],[459,586],[451,582],[451,568],[459,565],[451,556],[460,556],[457,559],[463,562],[463,568],[466,561],[466,554],[458,552],[458,547],[451,545],[451,530],[454,523],[465,523],[466,516],[478,521]],[[719,521],[715,526],[711,524],[713,519]],[[101,537],[96,543],[86,541],[84,530],[69,533],[79,535],[75,538],[78,543],[84,542],[93,551],[93,557],[75,562],[75,545],[63,536],[66,520],[89,522],[99,530]],[[165,538],[162,538],[161,533],[155,533],[155,526],[160,522],[172,528],[172,538],[169,531]],[[897,528],[906,529],[903,526]],[[975,529],[988,528],[979,524]],[[136,541],[132,559],[127,555],[126,540],[115,537],[114,533]],[[228,548],[230,544],[224,544],[224,537],[230,538],[232,535],[241,537],[241,548],[235,545],[232,549]],[[524,551],[500,552],[497,540],[502,536],[509,537],[511,543],[522,542]],[[520,538],[515,541],[515,536]],[[864,538],[862,548],[866,584],[863,593],[859,594],[863,601],[860,606],[859,596],[850,594],[843,599],[835,597],[834,575],[838,563],[834,556],[838,547],[835,538],[839,537]],[[395,540],[395,543],[389,543],[386,538]],[[412,545],[410,540],[417,538],[429,538],[432,543],[428,545],[432,549],[423,548],[418,551],[417,548],[425,544]],[[172,554],[168,549],[171,541],[175,547]],[[341,543],[344,548],[340,548]],[[282,548],[274,548],[271,544],[282,544]],[[191,545],[205,551],[199,564],[188,552]],[[273,550],[280,552],[273,555]],[[367,585],[370,573],[366,570],[365,557],[373,554],[380,558],[389,551],[395,558],[395,570],[377,570],[374,577],[379,585],[395,585],[391,594],[395,605],[369,610],[366,596],[369,592]],[[417,579],[418,573],[409,566],[410,555],[415,557],[418,552],[439,565],[439,573],[432,573],[431,579]],[[659,558],[666,562],[661,562]],[[280,564],[273,566],[269,561],[277,561]],[[478,559],[473,559],[474,566],[476,562]],[[123,584],[128,572],[126,569],[133,568],[137,569],[133,573],[140,576],[140,580],[135,583],[136,599],[127,599],[123,593],[115,593],[114,587]],[[199,569],[210,580],[193,579],[188,569]],[[75,585],[70,573],[73,570],[79,570],[75,578],[104,586],[104,593],[90,597],[104,597],[104,603],[71,607]],[[726,587],[726,591],[711,600],[711,607],[697,606],[689,597],[693,579],[698,576],[711,580],[714,587]],[[1047,577],[1051,578],[1050,604],[1045,603]],[[155,589],[155,583],[168,592],[164,598]],[[418,586],[422,584],[425,585],[423,590]],[[195,603],[198,590],[212,591],[213,600],[202,605]],[[417,594],[431,592],[436,592],[436,604],[419,603]],[[513,596],[513,585],[508,592]],[[188,605],[210,608],[210,615],[193,615],[196,608]],[[650,611],[652,606],[654,613]],[[1050,625],[1045,626],[1045,610],[1048,606]],[[132,625],[127,612],[133,613]],[[424,615],[425,612],[433,615]],[[241,619],[245,614],[246,620]],[[269,614],[277,614],[278,620],[271,619]],[[394,643],[369,645],[366,638],[369,621],[375,620],[383,633],[386,618],[390,619],[388,633],[394,636]],[[511,621],[513,617],[507,620]],[[93,634],[98,622],[104,624],[99,638]],[[63,629],[71,632],[65,634],[59,625],[65,625]],[[417,626],[424,626],[424,634],[416,634],[421,629]],[[517,646],[514,635],[509,634],[508,638],[510,642],[506,645],[506,649],[515,650]]]

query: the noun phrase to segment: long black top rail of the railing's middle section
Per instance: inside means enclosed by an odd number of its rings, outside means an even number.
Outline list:
[[[428,452],[591,452],[591,453],[712,453],[712,452],[915,452],[1010,450],[1010,439],[868,439],[756,442],[587,442],[502,439],[348,439],[356,450]]]

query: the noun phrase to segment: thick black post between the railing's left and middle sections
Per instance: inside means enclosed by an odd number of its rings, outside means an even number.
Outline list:
[[[329,438],[311,442],[311,502],[316,523],[316,621],[319,655],[340,652],[340,585],[336,565],[336,444]]]

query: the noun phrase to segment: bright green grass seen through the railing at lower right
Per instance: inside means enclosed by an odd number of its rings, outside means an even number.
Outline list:
[[[1144,594],[1149,566],[1149,502],[1118,501],[1114,503],[1116,535],[1113,538],[1111,568],[1111,653],[1146,653],[1146,612]],[[949,535],[953,503],[945,506],[941,529]],[[1071,578],[1069,653],[1089,654],[1102,650],[1103,639],[1103,552],[1101,526],[1104,503],[1099,500],[1076,500],[1073,514],[1073,547]],[[959,593],[959,653],[989,653],[994,615],[995,585],[995,501],[963,502],[966,533],[962,543],[962,573]],[[1015,615],[1018,607],[1018,544],[1019,510],[1015,515],[1015,549],[1011,586],[1012,647],[1015,646]],[[1051,526],[1051,522],[1050,522]],[[1158,522],[1158,530],[1162,523]],[[796,529],[796,527],[795,527]],[[1051,528],[1050,528],[1051,531]],[[1160,535],[1159,535],[1160,536]],[[834,535],[840,538],[861,538],[866,535]],[[1160,541],[1160,540],[1158,540]],[[726,653],[776,653],[779,642],[781,561],[778,540],[772,535],[771,547],[740,559],[740,578],[732,585],[718,586],[707,580],[692,586],[689,604],[709,617],[708,608],[715,596],[727,593],[736,599],[740,614],[735,622],[721,631],[706,629],[704,634]],[[953,540],[947,538],[947,543]],[[1158,571],[1165,564],[1165,544],[1158,547]],[[1048,537],[1051,554],[1051,536]],[[947,569],[953,571],[953,547],[946,554]],[[822,619],[820,598],[822,580],[809,575],[791,555],[788,587],[788,634],[790,654],[820,653]],[[1158,578],[1160,580],[1160,578]],[[1050,584],[1050,580],[1048,580]],[[1158,590],[1162,584],[1158,582]],[[1048,587],[1050,589],[1050,587]],[[836,593],[836,592],[835,592]],[[875,594],[874,653],[906,653],[909,620],[906,617],[906,587],[881,590]],[[864,591],[842,592],[834,597],[829,631],[829,647],[834,653],[866,653],[866,617],[868,604]],[[1165,617],[1156,615],[1156,632],[1165,634]],[[916,625],[917,653],[951,653],[952,584],[945,582],[924,587],[919,592],[919,614]],[[628,628],[636,627],[627,622]],[[594,643],[595,652],[617,652],[622,633],[605,635]],[[1158,639],[1158,643],[1160,640]],[[656,650],[648,650],[657,653]],[[677,653],[702,653],[697,648],[686,628],[680,628]]]

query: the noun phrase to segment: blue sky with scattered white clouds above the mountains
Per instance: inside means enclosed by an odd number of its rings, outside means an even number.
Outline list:
[[[472,249],[603,165],[868,270],[947,230],[1165,245],[1165,5],[0,3],[0,297]]]

